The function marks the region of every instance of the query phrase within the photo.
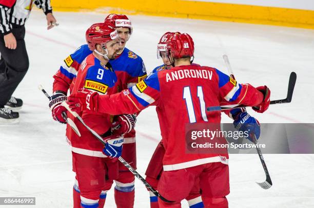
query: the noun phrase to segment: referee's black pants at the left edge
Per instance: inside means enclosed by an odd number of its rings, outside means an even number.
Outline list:
[[[15,50],[6,48],[4,36],[0,33],[0,107],[10,100],[29,66],[24,41],[25,27],[13,25],[12,33],[17,43]]]

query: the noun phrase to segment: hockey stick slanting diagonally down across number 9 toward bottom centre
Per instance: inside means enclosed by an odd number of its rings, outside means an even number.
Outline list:
[[[106,142],[103,140],[103,138],[97,134],[93,129],[91,129],[89,126],[87,126],[87,124],[85,124],[85,122],[83,121],[83,119],[80,117],[80,115],[78,115],[76,112],[72,111],[69,108],[69,105],[64,101],[62,102],[62,105],[68,110],[68,112],[70,112],[76,119],[78,119],[78,121],[80,121],[96,138],[97,140],[99,140],[103,145],[106,145]],[[132,166],[130,166],[130,164],[128,164],[127,161],[125,161],[121,156],[119,157],[119,160],[121,161],[121,163],[127,168],[129,169],[129,171],[138,179],[140,179],[145,187],[147,189],[149,189],[156,197],[159,197],[160,199],[162,199],[165,202],[171,203],[173,201],[169,201],[167,199],[165,199],[163,196],[161,196],[158,191],[156,191]]]

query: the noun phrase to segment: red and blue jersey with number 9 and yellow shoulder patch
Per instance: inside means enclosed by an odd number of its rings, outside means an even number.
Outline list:
[[[77,71],[71,94],[82,88],[96,91],[100,95],[117,93],[117,78],[110,67],[110,64],[107,64],[107,66],[102,65],[93,54],[87,56]],[[89,156],[106,157],[102,153],[103,145],[69,112],[68,117],[74,121],[81,133],[81,137],[78,137],[67,125],[66,135],[72,146],[72,151]],[[106,133],[111,127],[111,117],[107,113],[83,112],[81,117],[98,134]]]

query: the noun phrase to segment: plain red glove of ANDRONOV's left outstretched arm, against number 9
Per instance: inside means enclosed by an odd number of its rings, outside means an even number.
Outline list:
[[[71,110],[81,112],[83,110],[97,110],[98,93],[88,89],[79,89],[68,97],[68,105]]]

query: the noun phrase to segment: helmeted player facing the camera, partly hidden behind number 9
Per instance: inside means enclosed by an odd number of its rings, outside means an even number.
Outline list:
[[[122,89],[135,85],[147,77],[145,65],[139,55],[125,47],[126,42],[132,34],[130,19],[123,14],[109,14],[105,18],[105,23],[117,30],[122,42],[121,49],[117,52],[115,59],[109,60],[109,63],[117,76],[119,91],[121,91]],[[85,44],[64,59],[63,65],[53,76],[53,94],[56,94],[54,97],[66,96],[68,89],[71,91],[73,87],[72,81],[76,78],[78,67],[91,53],[92,51],[89,49],[88,45]],[[51,109],[53,119],[65,123],[65,120],[62,117],[62,112],[66,111],[66,109],[60,104]],[[124,135],[124,144],[122,156],[136,169],[134,129]],[[131,208],[134,204],[134,176],[120,162],[119,170],[119,178],[115,180],[115,202],[118,208]]]

